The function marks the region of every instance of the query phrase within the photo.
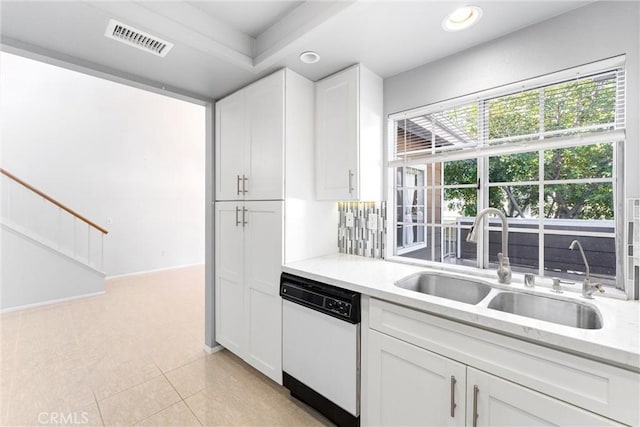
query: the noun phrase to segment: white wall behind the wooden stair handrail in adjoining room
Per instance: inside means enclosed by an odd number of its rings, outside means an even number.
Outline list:
[[[205,107],[4,52],[0,69],[2,167],[109,230],[107,275],[204,263]]]

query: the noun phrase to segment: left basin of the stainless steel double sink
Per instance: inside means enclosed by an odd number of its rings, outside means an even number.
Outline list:
[[[397,281],[395,285],[402,289],[467,304],[479,303],[491,291],[491,287],[482,282],[426,272],[412,274]]]

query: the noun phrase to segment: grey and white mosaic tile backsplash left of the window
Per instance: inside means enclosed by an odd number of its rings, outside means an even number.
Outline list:
[[[338,251],[368,258],[384,258],[386,202],[340,202],[338,211]]]

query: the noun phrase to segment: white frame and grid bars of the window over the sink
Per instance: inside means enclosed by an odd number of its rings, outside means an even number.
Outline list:
[[[503,144],[503,145],[486,145],[481,146],[475,150],[461,150],[461,151],[444,151],[438,152],[435,154],[431,154],[428,156],[428,159],[425,161],[426,156],[421,156],[413,159],[403,159],[403,160],[395,160],[395,149],[396,149],[396,121],[403,118],[412,118],[419,115],[426,115],[430,112],[442,111],[448,108],[454,108],[456,106],[464,105],[467,103],[477,102],[479,105],[482,105],[483,102],[486,102],[488,99],[510,95],[519,91],[534,89],[541,86],[552,85],[555,83],[559,83],[562,80],[568,80],[570,78],[575,78],[576,76],[584,76],[586,74],[595,74],[599,72],[613,71],[613,70],[624,70],[625,65],[625,57],[615,57],[610,58],[608,60],[598,61],[596,63],[587,64],[580,67],[571,68],[568,70],[563,70],[557,73],[548,74],[545,76],[537,77],[531,80],[527,80],[525,82],[517,82],[510,85],[505,85],[498,88],[489,89],[483,92],[478,92],[472,95],[462,96],[458,98],[453,98],[444,102],[434,103],[427,106],[419,107],[416,109],[406,110],[394,114],[390,114],[388,117],[388,128],[387,128],[387,194],[390,197],[387,197],[387,200],[390,200],[391,203],[388,203],[388,209],[391,211],[387,212],[387,218],[391,221],[392,224],[397,224],[396,218],[396,194],[395,190],[396,186],[396,168],[399,166],[413,166],[416,165],[425,165],[428,163],[436,164],[441,163],[445,164],[445,162],[452,160],[466,160],[477,158],[477,175],[479,181],[479,189],[477,193],[477,206],[478,209],[484,206],[488,206],[488,193],[489,188],[491,187],[499,187],[500,184],[504,183],[489,183],[489,158],[498,155],[508,155],[508,154],[516,154],[516,153],[524,153],[524,152],[532,152],[538,154],[538,179],[532,181],[532,185],[537,186],[538,188],[544,188],[546,185],[553,185],[553,180],[547,180],[543,174],[544,172],[544,162],[543,162],[543,153],[545,150],[550,149],[558,149],[558,148],[568,148],[575,147],[581,145],[591,145],[597,143],[611,143],[613,146],[613,170],[612,177],[609,178],[600,178],[597,181],[602,181],[603,183],[611,183],[614,187],[613,194],[613,211],[614,211],[614,232],[613,233],[605,233],[605,232],[589,232],[589,235],[593,235],[594,237],[614,237],[615,238],[615,253],[616,253],[616,278],[615,278],[615,290],[612,288],[610,294],[614,296],[622,296],[621,293],[624,292],[627,296],[631,290],[626,289],[626,273],[624,271],[624,258],[623,258],[623,247],[624,247],[624,224],[625,224],[625,215],[626,210],[624,209],[624,200],[625,200],[625,185],[624,185],[624,149],[625,149],[625,131],[624,131],[624,113],[625,108],[624,104],[620,105],[616,103],[615,113],[616,113],[616,124],[619,122],[622,123],[622,128],[617,128],[610,131],[604,131],[598,134],[586,134],[586,135],[577,135],[575,137],[562,137],[558,139],[549,139],[549,140],[540,140],[532,143],[531,141],[524,141],[522,143],[514,143],[514,144]],[[623,71],[624,72],[624,71]],[[624,99],[624,96],[623,96]],[[616,97],[616,102],[618,101],[618,97]],[[481,109],[481,107],[479,107]],[[622,110],[622,116],[619,117]],[[480,114],[480,113],[479,113]],[[429,169],[429,168],[427,168]],[[442,172],[444,168],[442,169]],[[593,180],[591,180],[593,181]],[[565,182],[563,182],[564,184]],[[522,184],[522,182],[519,182]],[[455,185],[458,187],[459,185]],[[427,192],[427,185],[425,183],[425,192]],[[448,186],[445,185],[444,181],[441,182],[439,188],[441,189],[441,198],[444,199],[444,189]],[[426,195],[425,195],[426,196]],[[539,194],[540,200],[544,197],[543,193]],[[427,209],[431,209],[429,203],[426,203]],[[393,206],[393,209],[391,209]],[[539,203],[539,211],[542,211],[544,208],[543,203]],[[544,271],[544,235],[550,234],[559,234],[559,235],[569,235],[574,236],[576,232],[572,232],[571,230],[563,231],[563,230],[549,230],[548,228],[544,230],[544,233],[541,233],[544,228],[544,217],[536,218],[536,222],[538,226],[533,229],[535,231],[529,231],[529,233],[537,233],[539,236],[539,248],[538,248],[538,273],[546,273],[547,276],[550,275],[550,272]],[[444,236],[445,226],[441,222],[439,224],[442,232],[440,233],[440,238],[442,239]],[[434,228],[434,221],[431,223],[426,221],[424,222],[425,232],[429,233],[432,228]],[[460,230],[468,229],[469,227],[461,227]],[[419,264],[425,265],[429,267],[434,267],[438,269],[450,269],[454,271],[461,272],[473,272],[474,274],[478,274],[480,272],[481,275],[492,276],[493,271],[488,269],[489,266],[489,253],[488,253],[488,236],[489,231],[500,230],[499,227],[485,227],[483,233],[480,233],[478,244],[476,248],[476,266],[470,267],[465,265],[454,265],[440,261],[430,261],[430,260],[420,260],[413,259],[407,257],[401,257],[401,253],[397,253],[397,241],[396,235],[393,234],[387,236],[387,248],[391,254],[387,255],[387,260],[394,262],[403,262],[410,264]],[[523,232],[518,230],[510,230],[510,232]],[[389,233],[391,234],[391,233]],[[580,234],[581,236],[587,234]],[[432,235],[433,236],[433,235]],[[441,242],[441,244],[444,244]],[[433,245],[432,245],[433,246]],[[435,257],[433,259],[436,259]],[[489,274],[487,274],[489,273]],[[515,273],[516,276],[520,275],[519,273]],[[617,292],[616,292],[617,291]]]

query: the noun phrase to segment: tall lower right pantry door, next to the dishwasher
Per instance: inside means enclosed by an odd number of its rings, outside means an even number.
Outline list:
[[[282,383],[282,299],[280,273],[283,202],[245,203],[245,359]]]

